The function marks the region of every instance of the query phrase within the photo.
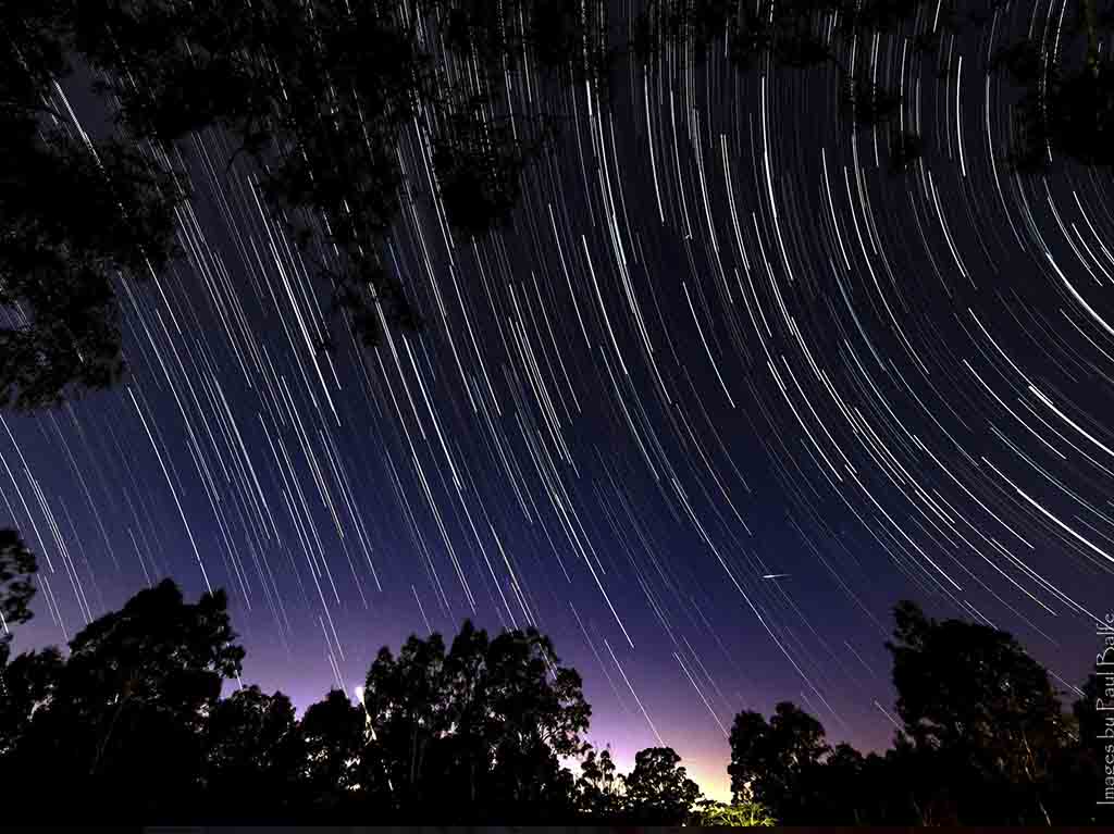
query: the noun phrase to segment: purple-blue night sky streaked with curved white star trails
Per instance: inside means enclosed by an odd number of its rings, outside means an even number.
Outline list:
[[[304,708],[411,632],[535,625],[620,769],[665,744],[721,797],[740,709],[889,744],[901,598],[1082,683],[1114,606],[1111,180],[1010,173],[1016,90],[988,70],[1061,17],[1015,3],[930,57],[927,14],[857,45],[924,136],[905,174],[833,70],[716,50],[550,102],[555,153],[482,241],[410,130],[383,256],[427,326],[377,350],[227,140],[186,143],[186,256],[119,285],[125,382],[2,414],[0,526],[40,561],[17,647],[166,576],[224,587],[244,681]]]

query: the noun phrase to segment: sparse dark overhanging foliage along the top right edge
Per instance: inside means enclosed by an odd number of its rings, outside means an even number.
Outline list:
[[[700,60],[715,47],[743,71],[764,68],[766,61],[789,69],[832,67],[840,111],[852,125],[883,128],[890,168],[900,171],[920,157],[924,143],[895,124],[900,91],[880,87],[867,61],[849,65],[849,46],[897,32],[927,11],[935,24],[912,41],[919,52],[934,52],[946,35],[981,27],[1007,6],[989,0],[960,13],[956,2],[922,0],[649,0],[632,26],[632,46],[642,60],[678,45]],[[1114,13],[1100,10],[1096,0],[1069,6],[1063,27],[1042,27],[1036,38],[1012,43],[995,59],[1022,92],[1013,108],[1008,154],[1022,173],[1046,170],[1053,153],[1088,166],[1114,163],[1114,78],[1108,50],[1101,48],[1114,32]]]

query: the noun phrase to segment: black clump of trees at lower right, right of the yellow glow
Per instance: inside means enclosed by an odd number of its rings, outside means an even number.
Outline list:
[[[912,602],[899,604],[895,620],[887,646],[905,727],[893,748],[866,757],[831,748],[820,723],[792,704],[779,704],[769,723],[740,713],[729,768],[736,797],[785,824],[1094,822],[1087,792],[1102,768],[1086,739],[1100,732],[1096,679],[1073,718],[1048,673],[1008,634],[932,620]]]

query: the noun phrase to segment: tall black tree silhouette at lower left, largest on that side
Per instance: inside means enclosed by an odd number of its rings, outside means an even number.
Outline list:
[[[39,684],[4,769],[30,796],[66,784],[82,818],[187,813],[205,718],[244,655],[225,608],[222,591],[186,604],[164,580],[79,631],[63,664],[39,658],[40,677],[51,673],[49,697]]]

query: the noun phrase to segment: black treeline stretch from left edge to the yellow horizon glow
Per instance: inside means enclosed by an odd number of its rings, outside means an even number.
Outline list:
[[[4,622],[30,617],[33,558],[0,548]],[[301,719],[238,681],[223,591],[139,591],[57,648],[0,640],[0,818],[179,822],[680,822],[700,798],[670,748],[618,775],[583,736],[580,676],[529,629],[466,621],[450,646],[382,648],[361,697],[339,689]],[[579,776],[561,762],[582,759]]]

